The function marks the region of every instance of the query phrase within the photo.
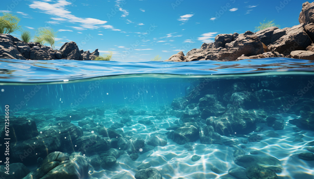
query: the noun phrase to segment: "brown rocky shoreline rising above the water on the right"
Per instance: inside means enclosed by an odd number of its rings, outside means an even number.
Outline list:
[[[314,2],[303,3],[299,25],[279,29],[269,27],[256,33],[219,34],[213,43],[204,43],[200,49],[192,49],[172,55],[166,61],[222,60],[235,61],[269,57],[286,57],[314,60]]]

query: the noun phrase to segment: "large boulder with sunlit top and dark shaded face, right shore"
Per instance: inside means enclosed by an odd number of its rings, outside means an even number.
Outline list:
[[[295,25],[284,30],[286,30],[286,34],[269,45],[270,50],[289,55],[291,51],[305,50],[306,47],[312,44],[312,40],[305,32],[304,24]]]

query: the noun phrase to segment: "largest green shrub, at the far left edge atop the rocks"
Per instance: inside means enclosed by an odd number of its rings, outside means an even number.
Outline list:
[[[16,30],[19,30],[21,27],[18,26],[20,18],[14,16],[10,13],[3,13],[3,16],[0,16],[0,34],[10,34]]]

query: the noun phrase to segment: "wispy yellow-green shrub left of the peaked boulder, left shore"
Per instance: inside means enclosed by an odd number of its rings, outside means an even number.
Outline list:
[[[55,38],[56,32],[48,28],[39,28],[36,30],[36,35],[34,41],[40,43],[41,45],[50,44],[51,48],[55,48]]]

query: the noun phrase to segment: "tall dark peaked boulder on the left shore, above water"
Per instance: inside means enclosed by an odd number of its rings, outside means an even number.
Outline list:
[[[59,51],[62,56],[68,60],[83,60],[78,46],[73,41],[66,42],[64,45],[62,45]]]

